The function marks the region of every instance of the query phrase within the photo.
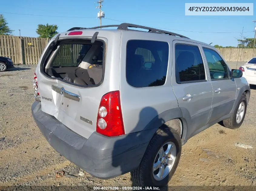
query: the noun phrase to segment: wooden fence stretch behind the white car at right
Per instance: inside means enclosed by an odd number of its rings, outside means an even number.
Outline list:
[[[227,62],[247,62],[256,56],[256,49],[249,48],[218,48]]]

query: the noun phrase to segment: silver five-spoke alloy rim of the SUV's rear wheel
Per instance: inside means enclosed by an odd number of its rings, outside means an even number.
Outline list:
[[[173,142],[167,142],[161,146],[153,163],[153,177],[155,180],[163,180],[171,171],[176,159],[176,146]]]

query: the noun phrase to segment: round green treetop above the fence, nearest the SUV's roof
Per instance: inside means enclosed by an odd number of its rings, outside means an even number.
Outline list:
[[[39,38],[52,38],[57,34],[58,26],[56,24],[38,24],[36,33],[39,34]]]

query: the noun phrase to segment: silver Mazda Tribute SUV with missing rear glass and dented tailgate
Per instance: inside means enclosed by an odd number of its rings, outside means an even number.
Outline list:
[[[213,46],[176,33],[75,27],[39,60],[32,114],[52,147],[91,175],[131,172],[137,185],[163,186],[189,138],[215,123],[241,126],[250,97],[241,76]]]

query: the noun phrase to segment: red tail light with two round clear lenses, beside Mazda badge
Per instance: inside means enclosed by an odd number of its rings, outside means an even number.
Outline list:
[[[119,91],[108,92],[101,98],[96,132],[109,137],[125,134]]]

